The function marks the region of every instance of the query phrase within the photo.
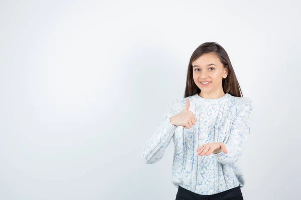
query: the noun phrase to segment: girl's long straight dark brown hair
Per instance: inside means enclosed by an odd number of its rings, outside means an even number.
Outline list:
[[[195,84],[193,80],[192,62],[198,59],[205,53],[215,53],[223,66],[228,67],[228,75],[222,80],[222,86],[225,93],[230,93],[232,96],[243,97],[241,88],[237,81],[234,69],[232,67],[230,58],[226,50],[217,42],[205,42],[199,45],[190,57],[187,69],[187,79],[184,97],[199,93],[201,89]]]

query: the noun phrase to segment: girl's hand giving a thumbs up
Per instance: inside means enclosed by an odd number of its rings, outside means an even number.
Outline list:
[[[192,111],[189,111],[190,101],[186,98],[186,106],[185,108],[178,114],[172,116],[170,121],[172,124],[176,126],[183,126],[187,129],[191,128],[196,124],[197,117],[194,115]]]

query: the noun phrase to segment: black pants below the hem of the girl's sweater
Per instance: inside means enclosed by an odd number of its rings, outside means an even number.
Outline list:
[[[179,185],[176,200],[243,200],[240,186],[216,194],[202,195]]]

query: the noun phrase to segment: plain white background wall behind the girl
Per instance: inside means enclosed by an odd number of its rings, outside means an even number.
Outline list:
[[[142,147],[192,52],[228,52],[255,109],[245,199],[298,199],[300,2],[0,2],[0,199],[175,199]]]

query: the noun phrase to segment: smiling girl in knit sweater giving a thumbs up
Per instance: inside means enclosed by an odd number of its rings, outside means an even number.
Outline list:
[[[143,159],[159,161],[173,140],[176,200],[243,199],[245,180],[236,161],[250,133],[252,109],[225,49],[205,42],[191,55],[184,98],[170,102]]]

